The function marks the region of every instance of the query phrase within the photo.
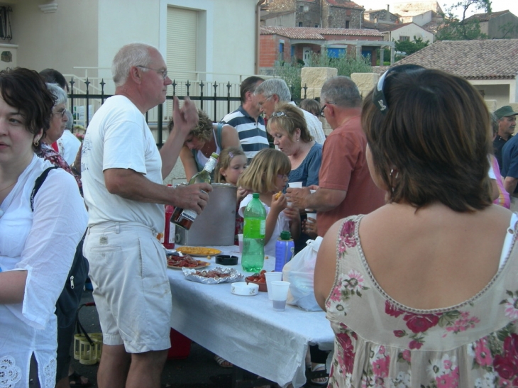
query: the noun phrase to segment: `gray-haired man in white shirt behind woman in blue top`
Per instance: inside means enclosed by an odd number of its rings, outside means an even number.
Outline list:
[[[296,104],[291,101],[292,94],[284,79],[267,79],[255,88],[254,94],[257,98],[260,111],[265,113],[266,118],[270,118],[278,105],[292,104],[296,106]],[[304,109],[300,109],[300,111],[304,114],[307,129],[312,135],[313,140],[315,140],[316,143],[324,144],[326,135],[324,134],[320,120],[312,113],[304,111]]]

